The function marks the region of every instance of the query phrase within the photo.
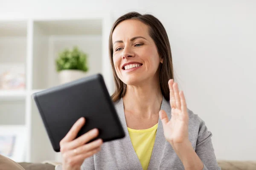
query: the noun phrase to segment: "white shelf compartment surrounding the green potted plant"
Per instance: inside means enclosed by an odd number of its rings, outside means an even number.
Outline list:
[[[59,85],[55,59],[77,46],[87,54],[87,76],[102,73],[102,20],[35,21],[32,89]]]

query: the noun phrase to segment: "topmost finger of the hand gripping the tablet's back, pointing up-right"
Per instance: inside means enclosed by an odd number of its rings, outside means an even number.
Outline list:
[[[62,142],[70,142],[73,141],[73,139],[76,138],[77,133],[79,132],[79,130],[81,130],[81,128],[83,127],[85,123],[85,119],[83,117],[81,117],[80,119],[78,119],[76,121],[76,123],[74,123],[74,125],[71,127],[70,131],[67,133],[67,135],[61,140]]]

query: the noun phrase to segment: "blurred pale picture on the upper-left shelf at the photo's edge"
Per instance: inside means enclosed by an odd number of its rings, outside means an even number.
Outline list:
[[[0,90],[25,89],[25,67],[22,63],[0,63]]]

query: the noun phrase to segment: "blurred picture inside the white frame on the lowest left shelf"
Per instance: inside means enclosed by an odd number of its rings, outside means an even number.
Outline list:
[[[13,156],[15,135],[0,135],[0,154],[4,156]]]

